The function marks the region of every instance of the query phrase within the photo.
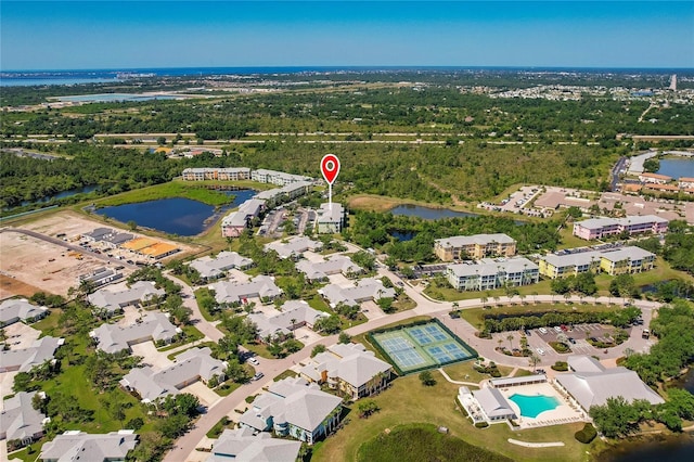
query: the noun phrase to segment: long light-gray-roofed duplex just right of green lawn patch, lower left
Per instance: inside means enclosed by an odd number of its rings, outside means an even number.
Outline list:
[[[150,367],[131,369],[120,380],[120,386],[137,392],[142,402],[156,401],[197,381],[207,383],[213,376],[224,376],[227,363],[210,356],[211,350],[191,348],[176,358],[175,364],[155,372]]]

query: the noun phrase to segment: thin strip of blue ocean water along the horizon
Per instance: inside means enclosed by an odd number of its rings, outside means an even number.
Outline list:
[[[564,73],[613,73],[613,74],[692,74],[694,69],[635,69],[635,68],[569,68],[569,67],[457,67],[457,66],[296,66],[296,67],[172,67],[134,69],[86,69],[86,70],[0,70],[0,87],[105,84],[137,76],[183,77],[222,75],[272,75],[338,72],[564,72]]]

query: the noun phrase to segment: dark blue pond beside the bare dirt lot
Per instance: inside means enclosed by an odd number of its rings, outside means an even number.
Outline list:
[[[195,235],[221,217],[227,210],[237,207],[255,195],[253,190],[229,191],[234,201],[215,215],[215,207],[190,198],[171,197],[137,204],[124,204],[97,210],[99,215],[115,218],[124,223],[134,221],[138,226],[164,231],[169,234]]]

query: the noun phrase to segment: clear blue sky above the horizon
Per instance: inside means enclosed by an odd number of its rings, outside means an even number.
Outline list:
[[[694,67],[693,1],[0,2],[0,69]]]

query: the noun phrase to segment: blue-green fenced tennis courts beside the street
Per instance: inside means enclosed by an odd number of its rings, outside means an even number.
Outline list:
[[[404,374],[477,356],[475,350],[447,331],[437,320],[372,334],[371,338]]]

